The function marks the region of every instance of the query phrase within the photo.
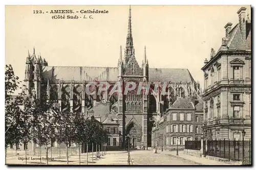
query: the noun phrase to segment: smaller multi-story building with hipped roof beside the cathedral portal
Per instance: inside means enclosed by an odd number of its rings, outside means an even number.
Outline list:
[[[178,98],[153,128],[152,141],[158,147],[183,149],[186,140],[200,140],[203,123],[203,101]]]

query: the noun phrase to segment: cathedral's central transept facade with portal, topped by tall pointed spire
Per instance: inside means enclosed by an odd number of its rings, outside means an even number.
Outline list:
[[[120,125],[122,125],[120,131],[122,130],[126,136],[126,139],[123,138],[123,140],[127,141],[128,137],[133,143],[133,147],[142,145],[146,147],[148,95],[144,95],[143,90],[140,87],[146,85],[148,82],[148,62],[146,60],[146,48],[144,48],[142,67],[139,66],[135,58],[131,6],[129,9],[128,31],[124,48],[124,61],[122,61],[122,50],[120,48],[118,78],[122,87],[130,87],[131,84],[132,86],[136,85],[134,90],[128,90],[127,93],[119,94],[118,96],[118,115]],[[126,91],[126,89],[124,91]],[[123,127],[125,128],[123,129]]]

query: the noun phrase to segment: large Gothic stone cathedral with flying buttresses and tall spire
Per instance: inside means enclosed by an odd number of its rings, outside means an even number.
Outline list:
[[[72,110],[86,116],[101,117],[102,121],[106,117],[115,119],[119,123],[120,135],[132,136],[134,146],[151,147],[154,122],[178,98],[200,99],[201,87],[188,69],[150,68],[146,47],[142,64],[139,65],[135,57],[131,23],[130,8],[126,45],[125,48],[120,46],[117,67],[50,66],[35,54],[34,49],[26,60],[25,83],[28,93],[34,98],[40,99],[42,94],[48,94],[60,111]],[[108,90],[99,94],[95,85],[91,88],[91,94],[87,94],[86,86],[92,81],[108,82]],[[152,90],[149,93],[142,90],[139,94],[133,91],[127,94],[110,93],[118,82],[122,86],[128,82],[134,82],[137,86],[150,83]],[[160,85],[155,86],[154,82]],[[163,84],[166,84],[165,88],[161,88]]]

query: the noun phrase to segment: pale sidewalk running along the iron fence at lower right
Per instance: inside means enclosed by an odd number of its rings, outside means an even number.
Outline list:
[[[202,165],[237,165],[236,163],[229,164],[229,163],[225,163],[225,162],[221,162],[221,161],[206,159],[204,157],[200,158],[200,157],[196,157],[196,156],[186,155],[186,154],[184,154],[183,151],[179,151],[178,156],[176,155],[177,151],[163,151],[163,152],[160,151],[159,153],[163,153],[165,155],[172,155],[172,156],[175,156],[175,157],[183,158],[183,159],[190,160],[190,161],[202,164]]]

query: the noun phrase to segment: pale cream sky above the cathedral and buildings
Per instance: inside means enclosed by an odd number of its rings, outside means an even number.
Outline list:
[[[141,65],[146,46],[152,68],[187,68],[203,86],[204,60],[218,51],[224,26],[238,23],[242,6],[131,6],[135,57]],[[247,9],[249,6],[244,6]],[[51,10],[108,10],[93,19],[52,19]],[[44,14],[33,14],[41,10]],[[48,13],[46,13],[48,11]],[[89,16],[89,15],[88,15]],[[117,67],[125,47],[129,6],[6,6],[6,64],[24,80],[28,51],[50,66]],[[80,18],[81,17],[81,18]]]

